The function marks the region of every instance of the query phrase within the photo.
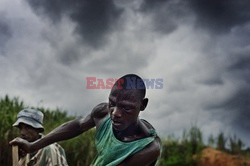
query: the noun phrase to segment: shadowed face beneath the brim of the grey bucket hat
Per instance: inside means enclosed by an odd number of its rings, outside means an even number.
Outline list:
[[[20,123],[18,128],[20,131],[20,137],[27,140],[28,142],[36,141],[39,138],[38,130],[29,125]]]

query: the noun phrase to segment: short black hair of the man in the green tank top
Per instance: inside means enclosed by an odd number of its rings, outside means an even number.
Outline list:
[[[146,86],[141,77],[136,74],[127,74],[119,78],[112,89],[120,89],[120,90],[138,90],[140,97],[144,99],[146,95]]]

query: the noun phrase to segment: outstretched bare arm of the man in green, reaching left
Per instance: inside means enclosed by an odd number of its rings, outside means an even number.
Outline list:
[[[74,138],[96,125],[95,116],[99,118],[98,116],[102,115],[102,109],[105,108],[102,105],[96,106],[87,117],[66,122],[35,142],[29,143],[21,138],[16,138],[10,142],[10,145],[18,145],[25,152],[31,153],[54,142]]]

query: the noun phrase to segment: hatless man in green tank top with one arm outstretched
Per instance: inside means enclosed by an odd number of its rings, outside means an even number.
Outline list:
[[[160,155],[160,140],[153,127],[138,118],[148,103],[145,93],[145,85],[139,76],[125,75],[111,89],[109,102],[97,105],[85,118],[67,122],[36,142],[16,138],[10,144],[33,152],[96,127],[98,154],[92,165],[154,165]]]

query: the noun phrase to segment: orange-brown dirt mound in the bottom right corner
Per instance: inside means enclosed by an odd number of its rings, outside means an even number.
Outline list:
[[[197,156],[195,157],[197,158]],[[214,148],[205,148],[198,157],[199,166],[250,166],[250,159],[231,155]]]

